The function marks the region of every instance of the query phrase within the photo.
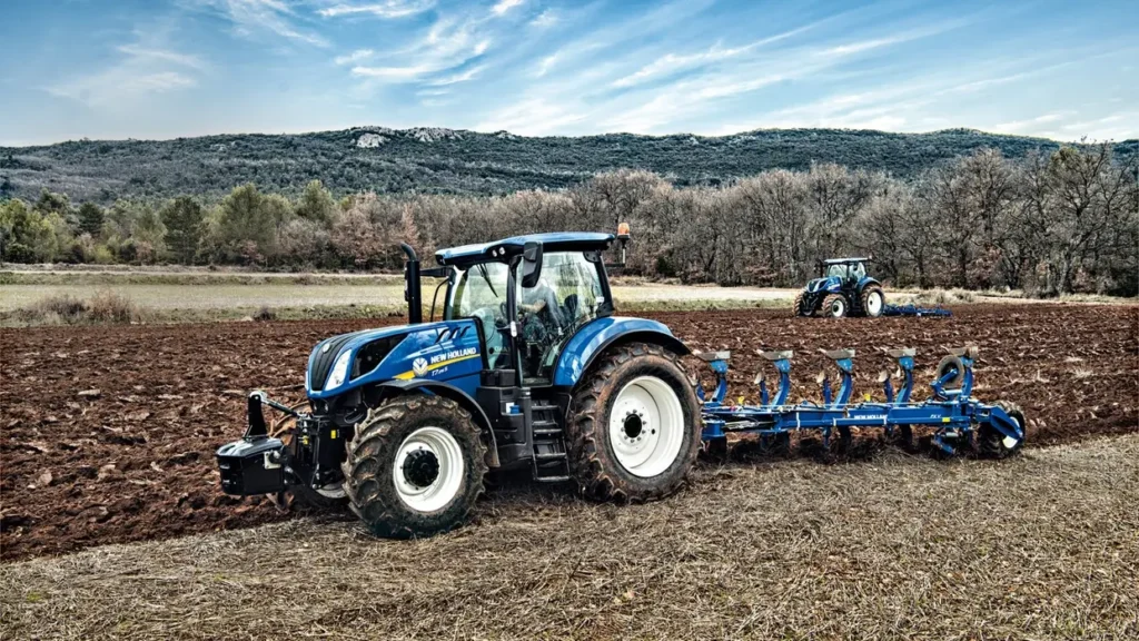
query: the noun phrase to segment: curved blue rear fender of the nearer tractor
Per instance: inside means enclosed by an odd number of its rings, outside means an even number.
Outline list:
[[[597,318],[566,342],[554,370],[554,386],[574,387],[598,356],[612,347],[626,342],[658,344],[680,356],[691,354],[691,350],[685,347],[685,343],[663,323],[621,316]]]

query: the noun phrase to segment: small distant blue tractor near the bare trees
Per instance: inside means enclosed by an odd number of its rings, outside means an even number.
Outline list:
[[[886,311],[882,283],[867,276],[869,258],[836,258],[819,263],[819,277],[795,297],[796,316],[822,314],[878,317]]]

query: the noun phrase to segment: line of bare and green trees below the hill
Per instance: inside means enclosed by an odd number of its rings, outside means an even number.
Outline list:
[[[0,258],[399,269],[400,242],[429,254],[618,222],[634,237],[625,271],[650,278],[797,286],[820,259],[869,254],[871,273],[898,286],[1139,293],[1139,165],[1109,145],[1023,159],[978,149],[908,180],[817,163],[714,187],[618,170],[505,196],[336,200],[314,180],[294,200],[247,184],[214,204],[179,196],[104,208],[43,192],[0,202]]]

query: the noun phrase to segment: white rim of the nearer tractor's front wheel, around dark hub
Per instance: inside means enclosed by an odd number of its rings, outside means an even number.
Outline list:
[[[437,474],[425,486],[409,479],[403,469],[408,457],[418,451],[433,454],[439,463]],[[392,468],[395,493],[408,508],[418,512],[434,512],[453,501],[462,485],[462,447],[459,441],[454,440],[451,432],[433,427],[419,428],[403,439]]]

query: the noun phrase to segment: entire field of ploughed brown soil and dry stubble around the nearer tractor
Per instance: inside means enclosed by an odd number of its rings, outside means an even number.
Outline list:
[[[649,316],[734,350],[732,393],[752,400],[756,348],[796,350],[797,399],[819,396],[819,348],[858,349],[858,391],[880,397],[878,348],[918,348],[924,382],[944,348],[976,342],[976,396],[1030,419],[1017,461],[867,447],[838,465],[703,463],[680,496],[628,509],[508,484],[476,526],[404,544],[227,497],[212,456],[240,435],[247,389],[297,398],[319,339],[398,319],[0,330],[0,622],[76,638],[263,636],[267,620],[388,638],[1133,638],[1139,308],[954,314]],[[290,609],[302,585],[310,607]]]

